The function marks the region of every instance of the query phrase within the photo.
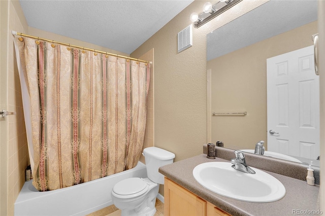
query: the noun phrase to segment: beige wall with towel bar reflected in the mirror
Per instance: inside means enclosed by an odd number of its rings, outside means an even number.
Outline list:
[[[315,33],[317,21],[207,62],[207,69],[212,69],[212,112],[247,112],[244,117],[212,117],[212,142],[253,149],[257,141],[265,140],[267,148],[266,59],[313,45]]]

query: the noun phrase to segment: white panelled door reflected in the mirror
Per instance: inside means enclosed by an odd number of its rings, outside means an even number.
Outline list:
[[[319,77],[313,46],[267,59],[267,91],[268,151],[315,160]]]

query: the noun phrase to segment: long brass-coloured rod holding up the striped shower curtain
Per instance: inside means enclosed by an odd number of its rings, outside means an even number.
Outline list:
[[[78,48],[78,49],[81,49],[81,50],[89,50],[89,51],[93,51],[93,52],[98,52],[98,53],[102,53],[102,54],[107,54],[107,55],[120,57],[120,58],[126,58],[126,59],[130,59],[130,60],[135,60],[135,61],[140,61],[140,62],[145,62],[145,63],[150,63],[150,64],[152,63],[151,61],[145,61],[145,60],[141,60],[141,59],[137,59],[137,58],[131,58],[131,57],[117,55],[117,54],[108,53],[108,52],[104,52],[104,51],[99,51],[99,50],[95,50],[95,49],[80,47],[80,46],[77,46],[77,45],[71,45],[71,44],[66,44],[66,43],[62,43],[62,42],[58,42],[58,41],[48,40],[48,39],[44,39],[44,38],[40,38],[40,37],[35,37],[35,36],[32,36],[32,35],[20,33],[20,32],[17,32],[17,31],[12,31],[11,33],[13,35],[20,35],[20,36],[27,37],[27,38],[37,39],[37,40],[46,41],[46,42],[50,42],[50,43],[54,43],[54,44],[60,44],[60,45],[68,46],[68,47],[74,47],[74,48]]]

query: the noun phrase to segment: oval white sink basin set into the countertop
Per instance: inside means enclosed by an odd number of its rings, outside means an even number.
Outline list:
[[[241,201],[274,202],[284,197],[285,188],[278,179],[251,168],[255,174],[236,170],[229,162],[208,162],[196,166],[193,176],[204,188]]]

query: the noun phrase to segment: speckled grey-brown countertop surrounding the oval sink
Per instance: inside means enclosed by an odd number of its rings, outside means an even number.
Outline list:
[[[319,209],[319,203],[317,203],[319,186],[310,186],[307,185],[306,181],[265,170],[284,185],[286,194],[282,199],[270,203],[251,203],[215,194],[203,188],[192,174],[194,167],[197,165],[213,161],[230,162],[221,158],[208,159],[206,154],[201,154],[162,166],[159,168],[159,172],[183,188],[232,215],[315,215],[312,211]]]

